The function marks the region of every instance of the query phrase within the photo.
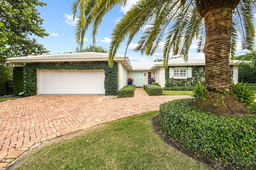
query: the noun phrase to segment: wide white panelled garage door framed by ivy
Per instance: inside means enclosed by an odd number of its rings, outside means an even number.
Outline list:
[[[39,70],[39,94],[105,94],[104,70]]]

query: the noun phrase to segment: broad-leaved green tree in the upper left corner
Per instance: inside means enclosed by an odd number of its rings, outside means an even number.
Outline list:
[[[9,57],[48,53],[30,35],[48,36],[40,27],[43,20],[35,6],[45,6],[38,0],[0,0],[0,60]]]

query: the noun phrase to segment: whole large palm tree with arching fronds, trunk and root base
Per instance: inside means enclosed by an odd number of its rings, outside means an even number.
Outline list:
[[[74,17],[78,6],[81,9],[75,36],[77,43],[83,45],[84,34],[90,25],[93,42],[96,42],[97,29],[103,17],[116,6],[125,4],[126,0],[76,0],[72,8]],[[226,111],[235,115],[238,110],[247,114],[247,109],[242,103],[235,103],[232,96],[222,98],[223,105],[220,107],[215,107],[212,101],[217,100],[220,92],[228,92],[232,88],[229,59],[230,53],[234,58],[238,35],[242,39],[242,49],[253,50],[255,29],[252,13],[255,9],[253,0],[139,0],[112,32],[109,65],[112,66],[114,56],[126,37],[127,51],[128,45],[141,30],[144,32],[136,51],[153,55],[164,39],[165,68],[168,68],[171,53],[187,60],[192,41],[198,39],[197,51],[205,53],[204,85],[208,90],[208,99],[203,102],[198,98],[193,106],[220,115]],[[230,105],[231,110],[223,109],[226,105]]]

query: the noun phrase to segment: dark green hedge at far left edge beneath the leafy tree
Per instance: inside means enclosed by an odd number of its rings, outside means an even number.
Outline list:
[[[7,92],[7,81],[9,79],[8,68],[0,65],[0,95],[4,95]]]

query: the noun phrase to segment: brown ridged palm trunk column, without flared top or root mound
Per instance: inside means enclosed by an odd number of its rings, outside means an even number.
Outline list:
[[[232,9],[212,9],[204,16],[206,30],[205,45],[205,86],[209,91],[216,88],[229,91],[230,47]]]

